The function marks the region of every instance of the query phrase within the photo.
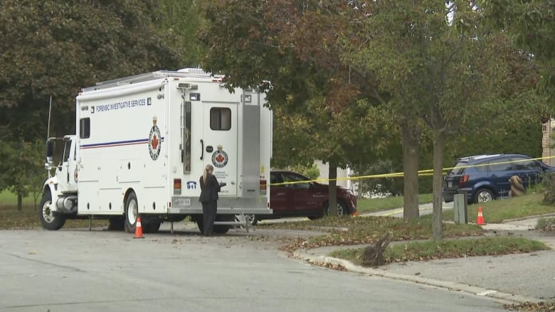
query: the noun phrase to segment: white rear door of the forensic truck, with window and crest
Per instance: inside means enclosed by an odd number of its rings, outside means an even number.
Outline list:
[[[214,166],[218,182],[226,183],[220,195],[237,195],[237,103],[203,103],[203,163]],[[203,167],[204,167],[203,166]]]

